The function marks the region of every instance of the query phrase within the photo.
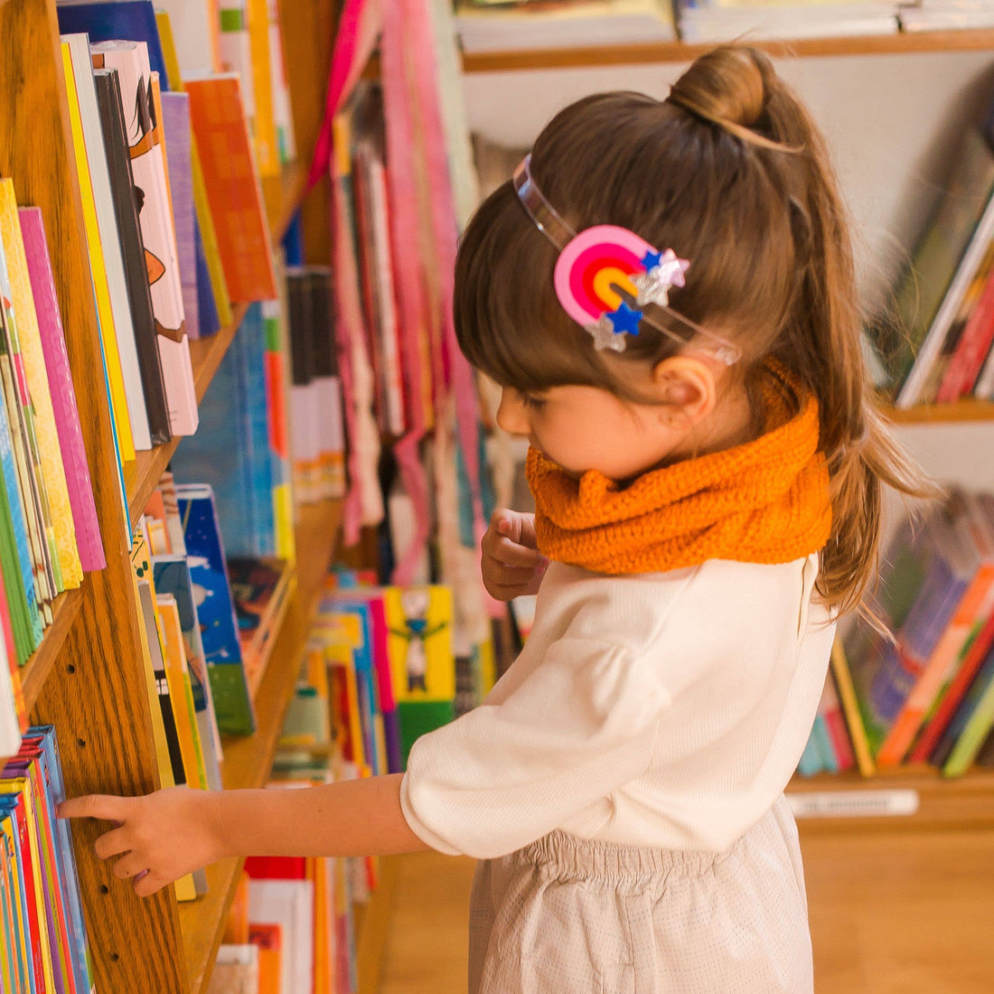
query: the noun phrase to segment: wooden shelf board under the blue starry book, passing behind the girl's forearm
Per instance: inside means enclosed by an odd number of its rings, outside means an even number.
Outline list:
[[[261,787],[268,778],[310,630],[314,599],[334,552],[340,516],[341,502],[337,500],[298,509],[296,590],[288,594],[290,604],[259,684],[255,699],[257,730],[253,736],[224,741],[222,775],[226,789]],[[209,893],[179,907],[187,973],[194,994],[207,986],[241,870],[241,860],[226,860],[208,868]]]

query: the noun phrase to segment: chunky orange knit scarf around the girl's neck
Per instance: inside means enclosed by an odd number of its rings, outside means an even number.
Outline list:
[[[828,467],[818,404],[778,369],[764,379],[764,431],[722,452],[639,476],[624,489],[597,470],[578,479],[528,453],[539,549],[596,573],[656,573],[711,559],[789,563],[828,541]]]

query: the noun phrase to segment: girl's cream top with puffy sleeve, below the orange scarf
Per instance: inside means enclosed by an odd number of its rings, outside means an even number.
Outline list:
[[[524,651],[486,702],[421,737],[414,833],[487,859],[562,829],[723,852],[807,741],[835,624],[816,555],[607,577],[554,564]]]

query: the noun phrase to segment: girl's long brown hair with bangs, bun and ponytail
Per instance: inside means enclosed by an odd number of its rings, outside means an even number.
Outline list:
[[[539,135],[532,175],[575,231],[620,225],[692,260],[671,306],[732,329],[750,396],[771,359],[814,393],[833,509],[818,588],[840,609],[858,605],[877,568],[882,484],[932,490],[866,375],[849,222],[824,140],[766,56],[717,48],[661,102],[630,92],[581,99]],[[605,359],[556,298],[557,254],[510,183],[484,202],[456,261],[463,352],[503,386],[584,384],[636,399],[625,364],[654,364],[679,345],[643,323],[620,357]]]

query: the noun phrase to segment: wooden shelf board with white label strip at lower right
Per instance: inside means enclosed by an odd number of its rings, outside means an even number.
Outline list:
[[[853,799],[858,804],[869,799],[870,791],[886,791],[892,796],[899,791],[911,791],[917,808],[909,814],[800,817],[802,832],[994,828],[994,769],[975,768],[957,777],[942,776],[931,766],[923,765],[903,766],[870,777],[852,771],[821,773],[812,777],[795,776],[787,788],[788,794],[799,796],[821,794],[829,805],[833,802],[831,795],[846,791],[854,793]]]

